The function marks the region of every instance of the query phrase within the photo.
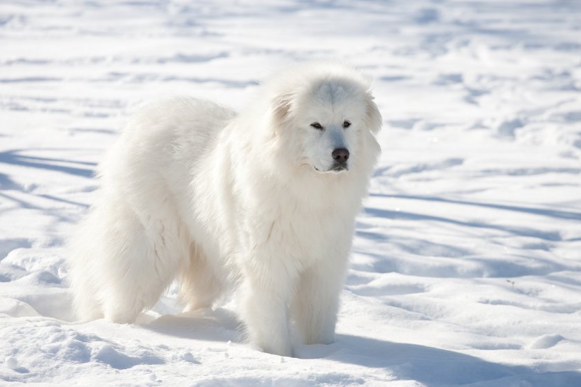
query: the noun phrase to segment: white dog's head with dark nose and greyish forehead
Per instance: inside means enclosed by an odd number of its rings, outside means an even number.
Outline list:
[[[360,158],[376,157],[365,143],[375,143],[382,120],[365,76],[342,64],[311,62],[281,78],[270,103],[290,162],[317,173],[343,173]]]

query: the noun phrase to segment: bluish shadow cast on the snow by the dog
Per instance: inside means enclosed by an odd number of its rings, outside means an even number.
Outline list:
[[[243,341],[236,314],[223,308],[165,315],[151,323],[139,325],[147,330],[186,339],[224,343]],[[559,385],[573,386],[581,381],[578,372],[538,373],[525,366],[497,364],[460,352],[428,346],[394,343],[351,334],[337,334],[335,339],[335,343],[328,346],[295,344],[293,356],[298,359],[325,359],[367,368],[384,368],[396,379],[415,380],[426,386],[486,383],[503,378],[509,378],[504,381],[516,381],[517,384],[521,380],[528,380],[533,385],[559,380],[565,382]]]

